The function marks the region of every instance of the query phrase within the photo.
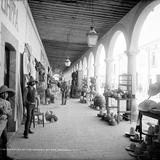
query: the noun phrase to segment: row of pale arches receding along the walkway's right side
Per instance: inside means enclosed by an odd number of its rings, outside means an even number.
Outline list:
[[[97,88],[101,93],[104,85],[116,87],[118,74],[131,74],[132,93],[136,95],[136,57],[139,54],[140,33],[147,16],[157,5],[160,5],[159,0],[139,3],[99,40],[96,47],[90,48],[72,64],[72,71],[82,70],[88,81],[90,77],[96,77]],[[133,106],[136,111],[135,102]]]

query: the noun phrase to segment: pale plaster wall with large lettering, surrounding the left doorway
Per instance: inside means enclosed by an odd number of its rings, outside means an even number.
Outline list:
[[[12,10],[13,9],[13,10]],[[0,0],[0,85],[4,84],[4,56],[5,43],[11,44],[16,52],[15,59],[15,112],[14,130],[18,129],[18,124],[22,119],[22,93],[20,89],[20,55],[24,52],[25,43],[31,47],[32,55],[41,61],[42,53],[44,61],[49,66],[46,53],[42,45],[37,28],[33,21],[28,3],[26,0]]]

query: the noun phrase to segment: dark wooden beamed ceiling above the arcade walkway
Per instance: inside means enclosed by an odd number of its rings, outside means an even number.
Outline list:
[[[101,38],[140,0],[28,0],[51,67],[66,69],[89,48],[91,20]]]

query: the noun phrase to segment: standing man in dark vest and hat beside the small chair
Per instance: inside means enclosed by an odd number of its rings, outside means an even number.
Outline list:
[[[34,85],[37,83],[36,80],[31,76],[29,82],[27,83],[27,87],[24,91],[24,105],[27,111],[27,119],[25,122],[25,129],[24,129],[24,138],[28,138],[28,134],[32,134],[31,131],[31,122],[33,120],[34,115],[34,108],[36,104],[36,89]]]

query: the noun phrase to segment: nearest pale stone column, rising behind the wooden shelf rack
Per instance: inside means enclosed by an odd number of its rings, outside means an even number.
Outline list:
[[[138,50],[126,51],[128,56],[128,74],[132,75],[132,94],[136,94],[136,55]],[[138,115],[138,107],[136,104],[136,98],[132,100],[132,120],[135,121]]]

